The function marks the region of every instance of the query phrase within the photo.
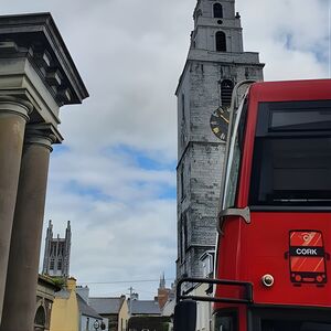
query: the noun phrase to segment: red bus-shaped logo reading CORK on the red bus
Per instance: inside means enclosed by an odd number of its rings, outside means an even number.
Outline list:
[[[325,284],[325,252],[320,231],[291,231],[289,265],[292,282]]]

